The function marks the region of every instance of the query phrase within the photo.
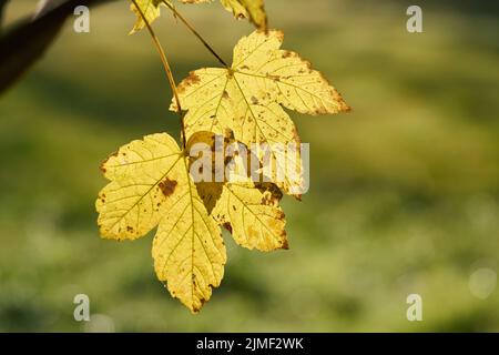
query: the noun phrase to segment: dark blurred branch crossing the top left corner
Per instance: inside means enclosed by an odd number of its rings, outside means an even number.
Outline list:
[[[0,0],[0,16],[8,0]],[[68,0],[40,17],[23,19],[0,37],[0,94],[30,69],[52,44],[65,19],[78,6],[96,6],[113,0]]]

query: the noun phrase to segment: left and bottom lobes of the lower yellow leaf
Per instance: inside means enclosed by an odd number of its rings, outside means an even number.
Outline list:
[[[111,183],[100,192],[96,210],[106,239],[138,239],[159,225],[152,248],[156,275],[196,313],[220,285],[226,253],[189,164],[166,133],[133,141],[102,164]]]

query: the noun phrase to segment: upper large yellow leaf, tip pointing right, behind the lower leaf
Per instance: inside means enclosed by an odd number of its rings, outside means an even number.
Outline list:
[[[231,68],[204,68],[190,73],[179,85],[187,136],[198,131],[223,134],[227,129],[247,146],[266,143],[274,173],[273,181],[295,196],[303,190],[303,168],[289,175],[287,151],[299,145],[299,136],[284,108],[308,114],[348,111],[339,93],[308,61],[282,50],[284,34],[277,30],[255,31],[234,48]],[[173,102],[171,110],[177,111]],[[258,152],[258,156],[265,152]],[[299,156],[298,156],[299,159]],[[294,171],[293,169],[291,171]],[[272,176],[274,178],[274,176]]]

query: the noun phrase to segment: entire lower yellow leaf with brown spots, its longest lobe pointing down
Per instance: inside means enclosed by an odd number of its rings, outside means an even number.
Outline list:
[[[213,133],[194,135],[187,148],[202,138],[214,142]],[[193,161],[166,133],[133,141],[102,164],[111,182],[95,205],[104,239],[135,240],[159,226],[152,247],[157,278],[197,313],[224,274],[226,252],[218,225],[248,248],[287,248],[287,241],[275,186],[231,181],[196,186]]]

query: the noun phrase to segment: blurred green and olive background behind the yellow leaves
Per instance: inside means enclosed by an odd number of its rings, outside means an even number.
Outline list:
[[[13,1],[7,20],[33,10]],[[292,113],[310,191],[284,201],[291,250],[226,237],[222,286],[200,315],[154,275],[152,235],[103,241],[99,164],[133,139],[179,135],[171,92],[123,1],[91,11],[0,98],[0,331],[499,331],[499,17],[487,1],[267,0],[271,26],[354,108]],[[218,2],[179,6],[224,58],[253,31]],[[155,24],[176,79],[216,61],[167,10]],[[22,43],[20,43],[22,45]],[[92,321],[73,320],[88,294]],[[408,322],[406,297],[422,296]]]

